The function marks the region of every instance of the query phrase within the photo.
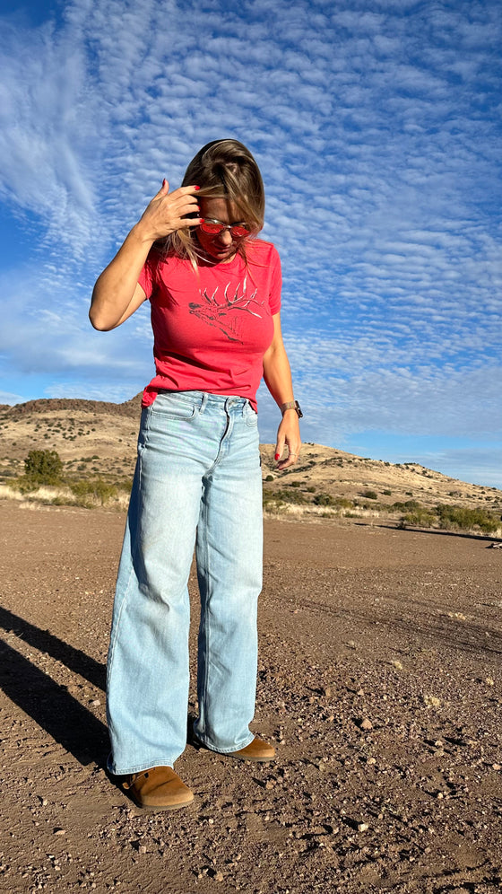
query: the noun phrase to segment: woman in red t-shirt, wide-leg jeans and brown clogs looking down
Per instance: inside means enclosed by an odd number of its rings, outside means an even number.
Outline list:
[[[255,238],[263,223],[251,153],[236,140],[209,143],[181,188],[169,192],[164,180],[92,294],[95,329],[115,329],[151,301],[157,374],[143,392],[108,653],[108,766],[142,807],[194,797],[173,769],[186,746],[194,546],[195,741],[230,758],[274,756],[249,731],[262,586],[262,374],[282,411],[278,469],[298,459],[300,411],[281,337],[279,257]]]

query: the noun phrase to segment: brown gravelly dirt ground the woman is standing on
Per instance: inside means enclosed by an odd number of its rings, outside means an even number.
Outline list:
[[[502,549],[267,521],[254,728],[277,760],[187,746],[194,805],[144,813],[104,769],[123,527],[0,504],[1,890],[502,889]]]

